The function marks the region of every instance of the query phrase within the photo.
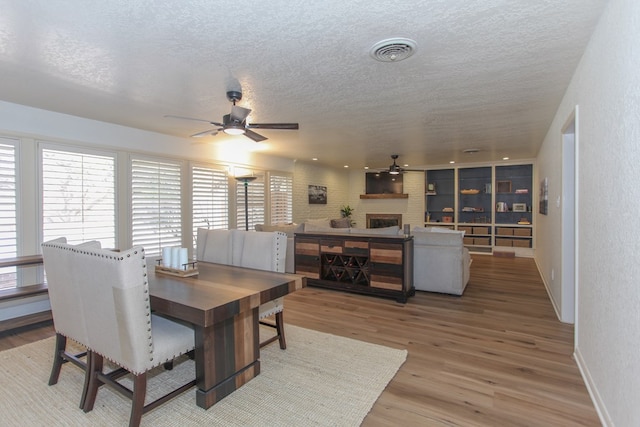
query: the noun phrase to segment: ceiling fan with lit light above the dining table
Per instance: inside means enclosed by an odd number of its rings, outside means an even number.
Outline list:
[[[231,113],[222,116],[222,123],[214,122],[206,119],[196,119],[193,117],[165,115],[165,117],[183,120],[195,120],[198,122],[207,122],[214,126],[215,129],[208,129],[202,132],[194,133],[192,138],[200,138],[207,135],[216,135],[219,131],[223,131],[227,135],[244,135],[255,142],[264,141],[267,137],[260,135],[251,129],[279,129],[279,130],[296,130],[299,128],[298,123],[247,123],[247,117],[251,110],[249,108],[238,107],[237,101],[242,99],[242,92],[229,91],[227,99],[233,103]]]

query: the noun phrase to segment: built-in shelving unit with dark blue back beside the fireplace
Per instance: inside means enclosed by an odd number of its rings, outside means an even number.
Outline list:
[[[532,256],[533,164],[425,172],[425,225],[465,232],[472,252]]]

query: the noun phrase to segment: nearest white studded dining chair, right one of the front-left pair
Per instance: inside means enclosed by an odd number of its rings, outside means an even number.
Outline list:
[[[98,388],[105,384],[132,399],[129,425],[137,426],[145,412],[195,385],[194,372],[193,380],[144,404],[147,372],[193,350],[194,332],[151,313],[142,247],[114,252],[74,250],[62,243],[46,245],[50,250],[66,251],[72,291],[84,313],[88,350],[85,412],[93,409]],[[120,368],[103,372],[105,358]],[[133,376],[132,390],[118,382],[127,373]]]

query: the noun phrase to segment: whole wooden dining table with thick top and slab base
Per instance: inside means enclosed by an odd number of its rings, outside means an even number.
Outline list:
[[[149,294],[154,313],[193,325],[196,404],[208,409],[260,373],[260,304],[306,278],[200,261],[195,268],[188,277],[149,268]]]

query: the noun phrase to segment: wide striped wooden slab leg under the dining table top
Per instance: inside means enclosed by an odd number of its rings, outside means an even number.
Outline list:
[[[195,327],[196,403],[208,409],[260,373],[258,308]]]

